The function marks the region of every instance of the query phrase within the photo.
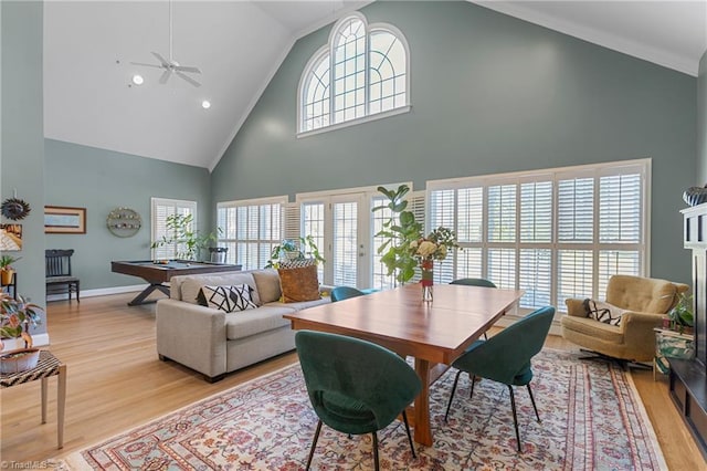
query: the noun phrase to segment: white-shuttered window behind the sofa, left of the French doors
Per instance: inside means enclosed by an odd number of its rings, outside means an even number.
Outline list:
[[[217,205],[221,228],[220,247],[226,247],[226,263],[243,270],[262,269],[273,247],[283,239],[283,208],[287,197],[229,201]]]

